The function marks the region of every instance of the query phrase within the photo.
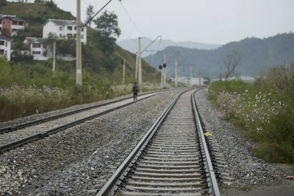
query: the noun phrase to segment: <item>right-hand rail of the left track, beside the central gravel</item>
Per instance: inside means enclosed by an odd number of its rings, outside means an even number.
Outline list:
[[[189,89],[191,90],[191,89]],[[153,92],[153,93],[156,93],[156,92]],[[150,93],[146,93],[146,94],[150,94]],[[144,95],[146,95],[144,94]],[[161,94],[161,93],[159,93]],[[155,95],[158,95],[158,94],[155,94]],[[48,129],[48,130],[45,130],[43,132],[40,132],[40,133],[36,133],[34,135],[30,135],[28,137],[25,137],[25,138],[21,138],[19,140],[15,140],[13,142],[10,142],[10,143],[7,143],[7,144],[4,144],[4,145],[1,145],[0,146],[0,153],[3,153],[4,151],[6,150],[10,150],[12,148],[16,148],[20,145],[23,145],[23,144],[26,144],[26,143],[29,143],[29,142],[32,142],[34,140],[38,140],[38,139],[41,139],[41,138],[44,138],[45,136],[48,136],[48,135],[51,135],[52,133],[55,133],[57,131],[60,131],[60,130],[64,130],[66,128],[69,128],[71,126],[74,126],[76,124],[79,124],[79,123],[82,123],[86,120],[90,120],[90,119],[93,119],[93,118],[97,118],[101,115],[104,115],[106,113],[110,113],[114,110],[117,110],[117,109],[120,109],[120,108],[123,108],[123,107],[126,107],[128,105],[131,105],[133,103],[136,103],[138,101],[141,101],[141,100],[145,100],[147,98],[150,98],[150,97],[153,97],[155,95],[151,95],[151,96],[148,96],[148,97],[145,97],[145,98],[142,98],[142,99],[139,99],[139,100],[136,100],[136,101],[133,101],[133,102],[130,102],[130,103],[126,103],[124,105],[120,105],[120,106],[117,106],[115,108],[111,108],[111,109],[108,109],[108,110],[105,110],[105,111],[102,111],[100,113],[96,113],[96,114],[93,114],[93,115],[89,115],[89,116],[86,116],[84,118],[80,118],[78,120],[75,120],[75,121],[72,121],[72,122],[69,122],[69,123],[66,123],[66,124],[63,124],[63,125],[60,125],[58,127],[54,127],[54,128],[51,128],[51,129]],[[129,98],[128,98],[129,99]],[[125,100],[125,99],[124,99]],[[117,102],[117,101],[116,101]]]

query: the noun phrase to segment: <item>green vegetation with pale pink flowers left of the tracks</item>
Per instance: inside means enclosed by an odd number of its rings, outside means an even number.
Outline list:
[[[132,93],[133,78],[114,72],[104,76],[83,71],[83,86],[76,86],[76,77],[66,71],[56,71],[52,77],[49,67],[9,64],[0,58],[0,122],[92,103]],[[165,87],[167,89],[168,87]],[[142,91],[161,90],[159,85],[144,85]]]

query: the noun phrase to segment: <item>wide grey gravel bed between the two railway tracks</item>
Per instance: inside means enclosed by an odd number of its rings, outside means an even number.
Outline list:
[[[0,155],[0,194],[94,195],[131,143],[141,139],[181,91],[156,95],[5,152]]]

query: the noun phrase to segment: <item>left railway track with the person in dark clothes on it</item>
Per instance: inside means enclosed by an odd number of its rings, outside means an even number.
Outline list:
[[[141,96],[138,96],[137,101],[158,95],[162,92],[165,91],[143,94]],[[19,145],[23,145],[25,143],[43,138],[47,135],[84,122],[86,120],[96,118],[119,108],[123,108],[137,101],[133,101],[133,98],[123,98],[121,100],[95,105],[20,125],[1,128],[0,153],[3,153],[4,151],[11,148],[15,148]]]

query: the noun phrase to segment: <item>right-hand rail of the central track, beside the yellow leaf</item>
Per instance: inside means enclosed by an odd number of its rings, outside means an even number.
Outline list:
[[[209,155],[209,151],[208,151],[206,141],[204,138],[203,129],[201,126],[201,120],[199,118],[198,111],[196,108],[195,94],[196,94],[196,91],[192,93],[191,98],[192,98],[193,112],[194,112],[195,120],[198,125],[197,127],[199,129],[199,136],[201,138],[200,142],[201,142],[201,146],[203,147],[203,158],[204,158],[205,171],[209,174],[207,176],[208,187],[209,187],[208,190],[209,190],[210,196],[220,196],[220,191],[218,189],[216,175],[213,170],[213,165],[211,163],[211,158]]]

